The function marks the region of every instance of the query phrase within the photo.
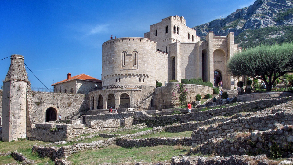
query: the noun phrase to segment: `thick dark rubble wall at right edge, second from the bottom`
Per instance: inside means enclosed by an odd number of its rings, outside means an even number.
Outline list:
[[[272,130],[255,131],[251,134],[233,133],[227,138],[209,139],[191,148],[191,153],[219,155],[266,154],[270,157],[291,157],[293,126],[276,124]]]

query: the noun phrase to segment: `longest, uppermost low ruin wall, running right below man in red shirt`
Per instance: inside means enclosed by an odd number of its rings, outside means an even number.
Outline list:
[[[173,123],[187,123],[189,121],[204,121],[208,120],[215,116],[231,116],[233,114],[239,112],[254,112],[260,109],[265,109],[266,107],[271,107],[273,105],[279,105],[281,103],[285,103],[288,101],[292,101],[293,96],[291,97],[283,97],[279,99],[264,99],[257,101],[250,101],[241,103],[239,105],[227,107],[227,108],[218,108],[211,109],[200,112],[193,112],[181,115],[165,115],[165,116],[151,116],[146,112],[139,111],[134,112],[134,120],[133,124],[146,123],[148,127],[157,127],[157,126],[165,126]]]

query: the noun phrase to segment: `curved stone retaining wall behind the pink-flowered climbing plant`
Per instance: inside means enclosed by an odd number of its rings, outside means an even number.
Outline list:
[[[188,94],[186,96],[187,101],[195,101],[195,96],[200,94],[203,98],[206,94],[212,94],[213,88],[202,85],[185,84],[183,85]],[[166,86],[155,88],[155,94],[153,95],[154,105],[173,105],[179,104],[179,83],[171,82]]]

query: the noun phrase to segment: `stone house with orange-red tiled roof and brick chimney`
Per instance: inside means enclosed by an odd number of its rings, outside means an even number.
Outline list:
[[[102,86],[102,81],[86,74],[80,74],[71,77],[67,74],[67,79],[52,84],[54,92],[69,94],[88,94],[89,90],[98,86]]]

